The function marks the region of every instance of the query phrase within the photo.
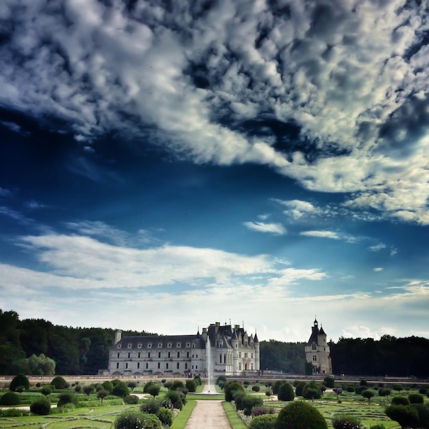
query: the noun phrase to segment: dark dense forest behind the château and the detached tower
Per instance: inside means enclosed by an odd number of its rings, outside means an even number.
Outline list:
[[[124,331],[128,335],[148,332]],[[108,350],[114,330],[69,328],[43,319],[20,320],[14,311],[0,310],[0,375],[24,371],[31,375],[96,374],[108,367]],[[260,342],[260,369],[304,374],[305,343]],[[332,369],[347,376],[397,376],[428,378],[429,340],[417,336],[380,340],[341,338],[330,341]],[[45,365],[44,365],[45,364]],[[53,371],[53,369],[52,369]]]

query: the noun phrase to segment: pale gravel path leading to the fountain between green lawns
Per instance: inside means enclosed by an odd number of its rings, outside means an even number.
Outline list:
[[[214,388],[214,387],[212,387]],[[208,385],[204,385],[203,393],[208,393]],[[185,429],[231,429],[221,400],[197,400]]]

